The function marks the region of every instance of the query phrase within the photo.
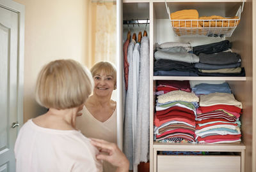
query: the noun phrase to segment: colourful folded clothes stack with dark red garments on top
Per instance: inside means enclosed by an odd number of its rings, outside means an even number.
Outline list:
[[[157,96],[154,136],[160,142],[195,143],[195,117],[198,97],[188,81],[159,81],[167,93]],[[179,86],[180,83],[180,86]],[[165,85],[165,86],[163,86]],[[159,90],[161,92],[162,90]]]

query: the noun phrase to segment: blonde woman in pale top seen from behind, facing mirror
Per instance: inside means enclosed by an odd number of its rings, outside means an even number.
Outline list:
[[[102,159],[115,164],[116,171],[128,171],[127,159],[115,144],[90,140],[76,129],[77,112],[92,88],[92,76],[76,61],[44,66],[36,82],[36,101],[49,111],[20,129],[15,143],[17,172],[102,171]],[[108,154],[99,154],[97,148]]]

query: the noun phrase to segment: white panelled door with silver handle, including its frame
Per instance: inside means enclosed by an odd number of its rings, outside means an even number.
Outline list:
[[[3,2],[0,1],[0,172],[9,172],[15,171],[13,148],[18,123],[22,123],[22,120],[19,121],[22,114],[19,62],[20,48],[23,47],[20,47],[20,13],[1,3]]]

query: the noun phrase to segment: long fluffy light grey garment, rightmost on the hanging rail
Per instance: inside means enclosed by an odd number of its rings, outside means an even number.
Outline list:
[[[149,145],[149,39],[143,36],[140,47],[138,113],[134,145],[134,172],[140,162],[148,161]]]

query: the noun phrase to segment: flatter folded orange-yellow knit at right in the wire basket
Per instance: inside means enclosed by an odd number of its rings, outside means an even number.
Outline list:
[[[223,19],[228,19],[228,20],[223,20]],[[240,22],[240,20],[232,20],[232,19],[238,19],[237,16],[231,17],[231,18],[226,18],[226,17],[221,17],[218,15],[212,15],[212,16],[204,16],[204,17],[199,17],[199,20],[205,20],[205,21],[199,21],[199,24],[202,27],[234,27],[237,26]],[[207,20],[213,20],[207,21]]]

